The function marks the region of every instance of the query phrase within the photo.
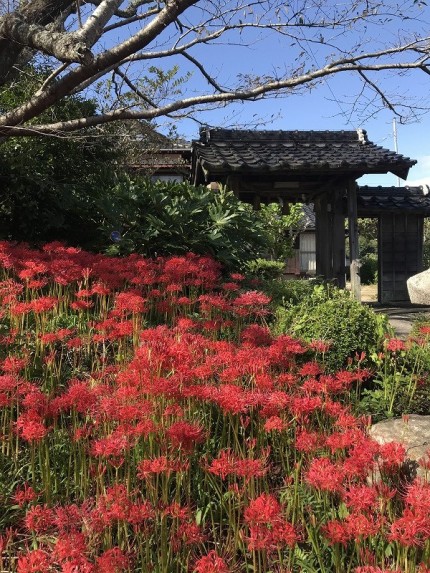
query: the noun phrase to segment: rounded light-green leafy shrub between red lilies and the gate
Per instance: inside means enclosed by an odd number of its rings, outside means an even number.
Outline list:
[[[329,370],[347,365],[356,353],[377,351],[388,331],[388,319],[330,284],[316,285],[297,305],[277,310],[276,333],[288,332],[306,341],[330,342],[325,356]]]

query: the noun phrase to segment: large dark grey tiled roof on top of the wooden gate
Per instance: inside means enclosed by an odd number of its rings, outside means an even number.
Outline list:
[[[415,160],[371,143],[357,131],[200,130],[193,142],[204,171],[219,173],[387,173],[405,178]]]

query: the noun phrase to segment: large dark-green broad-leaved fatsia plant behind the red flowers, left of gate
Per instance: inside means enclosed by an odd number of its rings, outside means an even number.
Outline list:
[[[123,179],[105,205],[106,237],[119,231],[111,254],[212,254],[242,267],[265,249],[263,224],[249,205],[225,188]]]

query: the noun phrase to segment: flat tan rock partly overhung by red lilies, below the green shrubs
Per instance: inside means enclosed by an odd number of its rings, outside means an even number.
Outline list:
[[[412,461],[417,475],[424,477],[425,470],[419,467],[419,459],[428,459],[430,452],[430,416],[411,414],[403,418],[391,418],[377,422],[370,429],[370,435],[380,444],[400,442],[406,455]],[[427,471],[427,479],[429,472]]]

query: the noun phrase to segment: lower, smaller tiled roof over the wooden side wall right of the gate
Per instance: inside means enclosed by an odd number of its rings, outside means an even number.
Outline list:
[[[416,213],[430,215],[430,195],[422,187],[359,187],[358,213]]]

